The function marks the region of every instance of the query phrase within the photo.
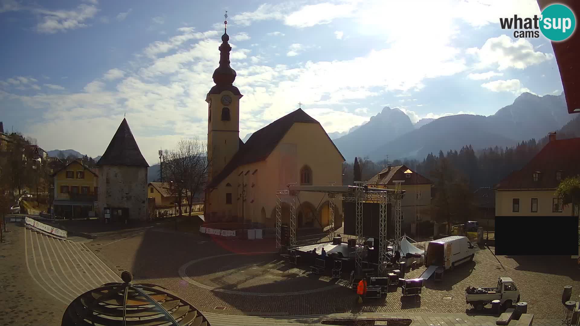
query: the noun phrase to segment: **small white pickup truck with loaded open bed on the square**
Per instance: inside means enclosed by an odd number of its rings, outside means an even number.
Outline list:
[[[467,287],[465,289],[465,302],[476,310],[483,310],[483,307],[493,300],[499,300],[504,310],[520,301],[520,291],[512,278],[500,277],[498,285],[494,288]]]

